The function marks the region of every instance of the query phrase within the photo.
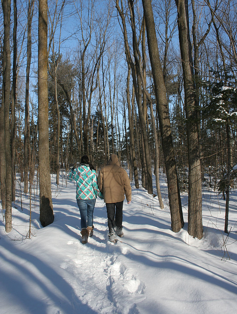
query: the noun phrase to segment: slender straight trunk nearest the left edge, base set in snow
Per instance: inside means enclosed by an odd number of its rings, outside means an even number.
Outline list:
[[[11,51],[10,51],[10,14],[11,0],[2,1],[4,40],[3,40],[3,84],[2,104],[4,104],[4,133],[5,133],[5,231],[12,230],[12,160],[10,146],[10,72],[11,72]]]

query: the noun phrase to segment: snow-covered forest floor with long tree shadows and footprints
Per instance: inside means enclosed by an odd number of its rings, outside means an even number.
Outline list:
[[[155,181],[154,181],[155,184]],[[224,234],[225,202],[203,190],[204,237],[187,233],[187,195],[182,194],[185,227],[170,230],[157,197],[132,183],[132,203],[124,202],[125,236],[108,242],[105,204],[97,199],[95,232],[80,242],[75,185],[57,189],[52,180],[53,224],[39,223],[37,197],[19,194],[13,230],[0,218],[0,314],[222,314],[237,313],[237,192],[230,196],[229,237]],[[155,186],[154,186],[155,191]],[[229,259],[230,258],[230,259]]]

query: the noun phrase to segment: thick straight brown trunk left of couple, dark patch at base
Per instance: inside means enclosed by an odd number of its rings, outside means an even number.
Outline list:
[[[38,55],[40,222],[43,227],[46,227],[51,224],[54,219],[48,138],[47,0],[39,0]]]

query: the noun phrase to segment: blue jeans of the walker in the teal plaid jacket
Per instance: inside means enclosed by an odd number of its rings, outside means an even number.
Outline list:
[[[81,229],[93,226],[95,201],[95,198],[93,200],[76,200],[81,215]]]

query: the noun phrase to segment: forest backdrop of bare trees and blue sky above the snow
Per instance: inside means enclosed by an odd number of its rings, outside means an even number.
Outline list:
[[[46,226],[53,222],[50,175],[59,188],[63,170],[84,154],[97,170],[117,154],[135,188],[158,197],[161,208],[168,204],[174,232],[184,225],[181,193],[188,193],[188,232],[202,238],[202,187],[218,189],[227,233],[237,163],[236,1],[1,4],[6,229],[18,176],[25,195],[39,179]]]

